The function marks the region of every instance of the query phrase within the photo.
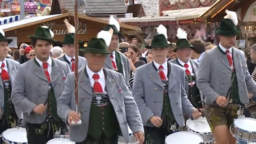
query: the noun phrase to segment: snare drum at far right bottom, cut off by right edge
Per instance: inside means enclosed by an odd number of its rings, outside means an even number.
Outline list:
[[[230,126],[230,132],[241,141],[256,142],[256,119],[237,118]]]

